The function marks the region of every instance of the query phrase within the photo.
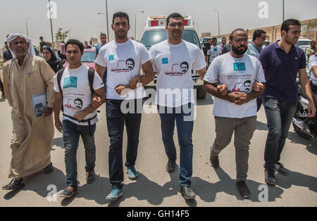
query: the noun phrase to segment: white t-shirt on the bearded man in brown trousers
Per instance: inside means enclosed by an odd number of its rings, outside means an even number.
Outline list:
[[[225,84],[228,87],[228,93],[234,91],[250,93],[255,81],[266,82],[262,65],[256,57],[244,54],[242,58],[234,58],[230,53],[225,53],[213,60],[204,81],[211,84]],[[236,105],[215,97],[213,115],[223,118],[256,116],[256,99]]]

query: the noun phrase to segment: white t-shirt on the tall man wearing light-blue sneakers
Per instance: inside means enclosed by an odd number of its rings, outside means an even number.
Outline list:
[[[144,88],[139,87],[124,96],[116,92],[119,84],[129,84],[130,80],[140,74],[141,66],[151,60],[147,48],[136,41],[128,39],[125,43],[115,40],[104,45],[96,58],[98,65],[107,67],[106,98],[107,99],[142,99],[146,96]]]

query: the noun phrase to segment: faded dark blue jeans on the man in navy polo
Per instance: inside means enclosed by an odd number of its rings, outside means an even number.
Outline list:
[[[266,169],[272,171],[275,163],[280,160],[297,102],[263,98],[263,106],[268,121],[268,137],[266,139],[264,160]]]

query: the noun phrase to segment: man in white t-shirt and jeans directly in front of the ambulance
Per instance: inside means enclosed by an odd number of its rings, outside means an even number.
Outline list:
[[[161,118],[164,148],[168,156],[166,170],[175,170],[176,148],[173,133],[176,121],[180,145],[180,187],[185,199],[195,198],[191,189],[192,130],[194,126],[194,98],[192,69],[201,77],[206,73],[204,53],[182,40],[182,15],[173,13],[166,19],[168,39],[151,47],[152,65],[157,72],[156,103]],[[169,92],[168,92],[169,91]],[[179,92],[179,93],[178,93]],[[175,93],[175,94],[174,94]],[[167,96],[167,99],[166,99]],[[175,97],[174,97],[175,96]]]

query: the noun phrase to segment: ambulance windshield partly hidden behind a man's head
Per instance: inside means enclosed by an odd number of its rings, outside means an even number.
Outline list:
[[[148,31],[144,32],[141,43],[149,50],[154,44],[163,42],[166,39],[168,39],[168,32],[166,32],[166,30]],[[192,44],[196,44],[201,48],[198,36],[194,30],[184,30],[182,39]]]

